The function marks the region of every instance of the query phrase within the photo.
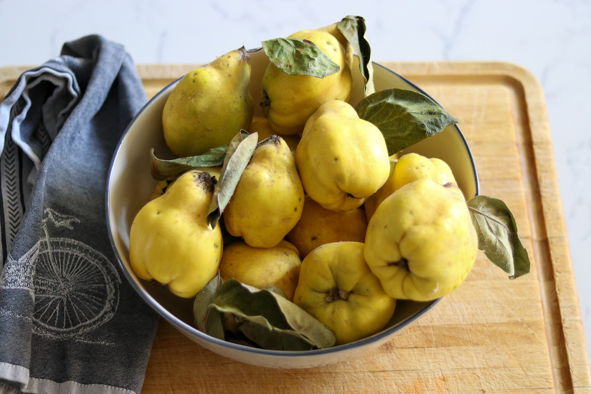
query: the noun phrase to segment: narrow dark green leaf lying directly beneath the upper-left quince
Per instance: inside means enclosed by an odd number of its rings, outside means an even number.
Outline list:
[[[152,148],[150,149],[152,178],[161,181],[175,177],[181,172],[193,170],[193,168],[222,165],[223,159],[226,157],[226,152],[228,152],[228,145],[221,145],[217,146],[217,148],[209,149],[209,151],[199,156],[166,160],[157,158]]]

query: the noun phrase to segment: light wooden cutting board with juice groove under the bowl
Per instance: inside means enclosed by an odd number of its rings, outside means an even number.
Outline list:
[[[234,362],[162,320],[143,393],[591,392],[540,84],[508,63],[382,64],[460,120],[480,194],[501,198],[514,213],[531,272],[510,281],[480,252],[464,284],[397,337],[363,356],[311,369]],[[138,71],[151,97],[194,67],[139,65]],[[0,69],[0,96],[12,85],[6,76],[22,70]]]

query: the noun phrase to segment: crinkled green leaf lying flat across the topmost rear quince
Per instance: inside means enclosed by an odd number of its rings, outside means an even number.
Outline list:
[[[275,38],[262,41],[262,48],[271,63],[288,75],[324,78],[340,71],[340,66],[309,40]]]

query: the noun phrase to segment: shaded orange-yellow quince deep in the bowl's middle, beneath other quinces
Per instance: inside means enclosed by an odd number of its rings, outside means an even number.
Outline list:
[[[365,240],[368,222],[361,208],[346,212],[325,209],[310,196],[304,198],[300,221],[291,229],[287,239],[306,257],[320,245],[339,241]]]

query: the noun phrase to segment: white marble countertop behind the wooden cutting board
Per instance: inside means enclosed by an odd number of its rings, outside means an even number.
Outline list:
[[[226,51],[366,19],[375,61],[500,60],[546,97],[587,344],[591,344],[591,2],[589,0],[83,1],[0,0],[0,67],[41,64],[87,34],[124,44],[136,63],[207,63]],[[590,348],[590,347],[588,347]]]

